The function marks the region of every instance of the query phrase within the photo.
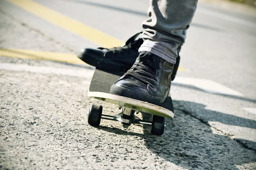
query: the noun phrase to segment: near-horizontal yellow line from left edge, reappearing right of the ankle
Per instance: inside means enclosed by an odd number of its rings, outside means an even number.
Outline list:
[[[86,63],[81,61],[79,58],[77,58],[75,54],[66,54],[66,53],[0,48],[0,56],[21,58],[21,59],[42,59],[42,60],[86,65]],[[183,67],[179,67],[178,71],[186,71],[186,69]]]

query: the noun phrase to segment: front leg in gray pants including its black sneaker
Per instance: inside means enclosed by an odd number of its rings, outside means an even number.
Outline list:
[[[177,48],[185,42],[197,0],[150,3],[151,17],[143,22],[140,55],[131,69],[112,85],[110,93],[162,105],[169,96]]]

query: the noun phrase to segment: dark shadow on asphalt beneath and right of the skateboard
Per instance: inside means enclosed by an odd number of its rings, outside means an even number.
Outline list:
[[[247,127],[251,120],[204,109],[205,106],[185,101],[174,101],[175,106],[197,108],[210,121],[218,121],[229,125]],[[151,127],[143,126],[144,134],[126,132],[109,127],[98,127],[119,135],[142,137],[147,148],[157,156],[187,169],[237,169],[242,165],[256,161],[255,151],[242,147],[236,140],[228,136],[212,133],[209,125],[202,124],[183,111],[175,110],[175,119],[166,119],[167,127],[162,136],[150,134]],[[150,120],[151,115],[143,114],[143,119]],[[243,139],[241,139],[243,140]],[[252,142],[255,144],[255,142]],[[157,161],[157,160],[156,160]]]

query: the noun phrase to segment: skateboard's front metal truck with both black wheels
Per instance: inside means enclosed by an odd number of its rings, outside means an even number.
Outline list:
[[[99,126],[101,119],[108,119],[113,121],[122,122],[124,125],[131,124],[143,124],[143,125],[151,125],[151,133],[154,135],[163,134],[165,124],[165,118],[157,115],[152,116],[152,122],[144,121],[134,113],[137,112],[130,108],[122,107],[122,112],[116,114],[114,116],[104,115],[102,114],[102,106],[99,105],[91,105],[88,113],[88,123],[92,126]]]

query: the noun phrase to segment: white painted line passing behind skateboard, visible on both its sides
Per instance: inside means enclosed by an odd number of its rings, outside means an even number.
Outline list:
[[[66,68],[54,68],[44,66],[32,66],[25,64],[12,64],[12,63],[0,63],[1,70],[12,70],[12,71],[28,71],[32,73],[42,74],[57,74],[64,76],[73,77],[84,77],[91,78],[93,75],[93,69],[66,69]],[[243,94],[227,88],[217,82],[207,79],[197,79],[189,77],[175,77],[173,84],[192,85],[201,90],[207,91],[213,94],[227,94],[233,96],[243,96]]]

